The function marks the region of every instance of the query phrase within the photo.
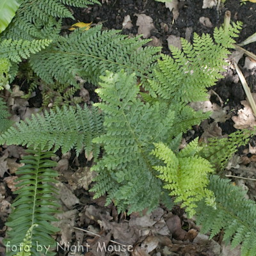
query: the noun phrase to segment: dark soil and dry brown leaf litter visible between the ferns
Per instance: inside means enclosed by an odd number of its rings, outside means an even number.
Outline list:
[[[106,3],[102,3],[102,6],[94,5],[89,8],[72,8],[76,21],[71,19],[65,19],[63,26],[70,26],[76,22],[85,22],[93,24],[99,24],[102,22],[104,29],[120,29],[122,33],[129,36],[135,36],[138,33],[138,26],[136,22],[138,17],[135,14],[144,13],[152,18],[154,29],[150,31],[148,37],[157,40],[156,44],[163,46],[163,53],[170,54],[166,39],[168,36],[181,36],[187,37],[189,40],[193,40],[193,33],[191,36],[186,35],[188,28],[191,28],[192,32],[202,35],[202,33],[210,33],[212,35],[213,30],[216,26],[220,26],[223,23],[224,13],[226,10],[230,10],[232,13],[232,21],[241,20],[243,22],[243,29],[240,33],[237,42],[242,42],[248,36],[256,32],[256,3],[244,4],[241,6],[239,0],[227,0],[225,6],[222,6],[219,12],[216,11],[216,7],[211,9],[202,9],[202,0],[187,0],[179,1],[179,17],[173,20],[173,13],[165,7],[164,3],[159,3],[154,0],[108,0]],[[124,22],[125,16],[130,15],[132,28],[123,29],[122,23]],[[205,27],[200,23],[200,17],[207,17],[211,20],[211,28]],[[165,25],[164,25],[165,24]],[[166,29],[166,26],[167,29]],[[63,33],[69,33],[63,29]],[[244,49],[252,51],[256,54],[256,43],[244,46]],[[244,57],[239,61],[239,67],[244,73],[244,76],[248,80],[248,84],[252,92],[256,92],[256,73],[255,70],[246,70],[244,67]],[[218,104],[221,108],[226,107],[226,115],[228,115],[225,122],[216,122],[218,127],[222,129],[210,129],[210,123],[214,122],[212,119],[209,124],[193,127],[192,131],[189,131],[184,138],[186,141],[195,138],[196,136],[202,136],[205,131],[213,134],[213,136],[223,136],[237,131],[234,128],[234,121],[232,116],[237,116],[239,109],[243,108],[241,100],[245,100],[246,96],[243,92],[241,83],[237,77],[236,71],[230,67],[227,67],[227,72],[223,74],[224,79],[218,81],[216,86],[212,89],[216,94],[212,94],[211,102]],[[20,82],[21,83],[21,82]],[[94,102],[97,101],[97,95],[94,93],[95,87],[87,84],[86,89],[90,93],[90,98]],[[223,100],[223,106],[221,106],[221,100]],[[29,107],[39,108],[42,104],[42,99],[31,98],[29,101]],[[215,133],[214,133],[215,132]],[[250,140],[248,146],[239,149],[240,159],[236,159],[234,166],[239,163],[239,168],[231,168],[230,173],[232,175],[241,175],[244,177],[254,178],[255,173],[255,139]],[[2,148],[8,150],[9,157],[16,157],[20,159],[20,156],[24,154],[21,147],[11,146]],[[14,148],[13,148],[14,147]],[[5,151],[6,152],[6,151]],[[13,156],[13,152],[16,155]],[[12,154],[12,156],[10,156]],[[106,198],[104,196],[97,200],[93,200],[92,193],[88,192],[90,188],[90,175],[88,174],[88,181],[84,182],[83,187],[77,185],[79,179],[79,173],[90,173],[90,166],[92,161],[88,161],[84,154],[79,157],[75,157],[75,152],[70,152],[66,156],[61,156],[58,152],[58,156],[62,157],[59,161],[58,170],[60,171],[60,180],[63,185],[60,189],[67,198],[60,196],[60,200],[63,202],[63,208],[65,213],[62,215],[63,221],[61,221],[61,233],[56,237],[57,241],[69,241],[71,244],[76,244],[79,241],[80,244],[84,245],[86,249],[86,243],[90,244],[90,250],[86,255],[89,256],[104,256],[104,255],[120,255],[125,256],[127,252],[96,252],[97,243],[106,243],[106,245],[114,245],[116,243],[111,242],[114,240],[121,244],[131,244],[133,246],[133,256],[214,256],[214,255],[228,255],[235,256],[239,254],[239,248],[232,251],[228,248],[223,247],[222,238],[223,234],[218,234],[212,241],[207,242],[207,237],[197,236],[200,231],[200,227],[196,227],[192,220],[188,220],[184,211],[179,207],[174,207],[172,212],[169,212],[163,205],[159,205],[159,208],[150,215],[141,217],[139,214],[132,214],[131,216],[125,216],[125,214],[117,214],[116,207],[113,204],[104,207]],[[60,163],[61,162],[61,163]],[[12,166],[12,164],[10,164]],[[17,165],[13,165],[13,170],[17,168]],[[11,170],[10,170],[10,173]],[[8,178],[8,179],[6,179]],[[255,199],[256,190],[255,182],[248,181],[240,182],[235,179],[239,185],[244,188],[249,188],[250,193],[248,197]],[[15,189],[13,187],[14,180],[12,177],[4,178],[1,183],[1,193],[5,194],[7,201],[12,201],[14,197],[11,193]],[[86,188],[88,186],[88,188]],[[68,195],[68,196],[67,196]],[[9,212],[1,216],[0,234],[4,237],[6,227],[4,221]],[[93,234],[88,234],[81,230],[74,229],[73,227],[84,228],[90,230],[95,234],[102,236],[97,238]],[[101,231],[100,231],[101,230]],[[117,244],[116,244],[117,246]],[[116,247],[117,248],[117,247]],[[2,250],[2,254],[4,250]],[[59,255],[71,255],[67,250],[60,250]],[[84,253],[83,253],[84,254]],[[79,255],[79,253],[77,253]]]

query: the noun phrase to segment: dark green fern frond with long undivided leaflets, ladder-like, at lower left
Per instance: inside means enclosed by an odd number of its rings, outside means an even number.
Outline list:
[[[43,152],[42,150],[26,150],[30,155],[24,156],[20,161],[25,165],[16,172],[20,176],[16,181],[20,181],[17,194],[6,226],[12,228],[6,232],[7,237],[4,240],[6,248],[9,248],[7,255],[13,255],[17,252],[10,251],[13,245],[19,248],[19,244],[24,242],[29,228],[33,227],[31,232],[31,255],[38,256],[36,252],[36,243],[42,246],[42,253],[45,254],[45,248],[56,245],[51,234],[54,234],[59,228],[53,227],[51,221],[58,221],[52,214],[58,212],[56,207],[60,205],[54,202],[56,197],[56,188],[49,182],[56,182],[54,177],[58,172],[51,168],[56,166],[56,162],[49,160],[49,157],[55,156],[52,152]],[[36,225],[37,226],[36,226]],[[35,227],[34,227],[35,226]],[[24,250],[24,247],[23,247]],[[28,250],[28,249],[27,249]],[[47,252],[47,255],[54,255],[54,252]]]

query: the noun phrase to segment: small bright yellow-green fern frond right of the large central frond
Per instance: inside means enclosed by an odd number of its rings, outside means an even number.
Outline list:
[[[153,166],[161,173],[157,177],[164,180],[163,188],[171,191],[170,196],[175,196],[174,202],[182,202],[180,207],[186,207],[189,218],[195,214],[195,203],[202,198],[206,197],[208,204],[215,207],[214,194],[206,189],[209,183],[207,175],[213,170],[207,160],[196,155],[200,150],[198,139],[191,141],[188,147],[180,150],[177,155],[164,143],[154,143],[154,145],[156,148],[152,154],[162,159],[165,164]]]

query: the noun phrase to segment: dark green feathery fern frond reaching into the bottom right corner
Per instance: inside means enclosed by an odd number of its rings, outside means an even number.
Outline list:
[[[214,237],[221,229],[223,240],[232,241],[231,248],[242,243],[241,256],[253,256],[256,252],[256,204],[244,199],[246,191],[234,186],[228,179],[217,175],[210,177],[208,189],[216,196],[216,210],[205,205],[204,201],[196,208],[196,223],[202,225],[200,232],[211,231]]]

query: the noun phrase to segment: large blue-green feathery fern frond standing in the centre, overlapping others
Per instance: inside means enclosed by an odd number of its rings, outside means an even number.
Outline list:
[[[135,74],[127,76],[124,70],[113,75],[106,72],[100,77],[102,88],[96,90],[102,103],[96,103],[105,113],[106,134],[95,138],[105,148],[105,154],[93,166],[99,175],[92,191],[100,196],[108,191],[108,202],[113,200],[118,211],[129,208],[128,214],[156,209],[161,198],[161,180],[150,156],[152,143],[168,137],[173,122],[173,112],[160,112],[159,106],[150,106],[137,99],[140,90],[134,81]]]

